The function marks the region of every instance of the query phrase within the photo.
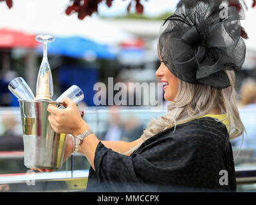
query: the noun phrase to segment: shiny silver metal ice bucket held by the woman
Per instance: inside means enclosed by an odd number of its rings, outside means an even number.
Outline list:
[[[28,168],[62,167],[68,135],[55,133],[48,120],[48,105],[61,102],[19,100],[23,126],[24,164]]]

